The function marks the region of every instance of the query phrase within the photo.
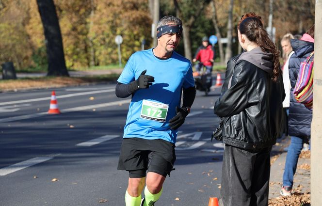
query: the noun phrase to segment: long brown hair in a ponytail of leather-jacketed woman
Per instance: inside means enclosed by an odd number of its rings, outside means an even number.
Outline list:
[[[272,79],[273,81],[277,81],[277,78],[282,73],[279,63],[279,50],[264,29],[261,19],[256,16],[247,17],[240,21],[238,29],[241,34],[245,34],[250,41],[255,42],[262,51],[273,53],[274,68]]]

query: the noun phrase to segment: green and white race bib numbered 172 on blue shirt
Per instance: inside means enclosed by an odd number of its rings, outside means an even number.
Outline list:
[[[141,118],[165,122],[168,109],[169,105],[144,99],[142,102]]]

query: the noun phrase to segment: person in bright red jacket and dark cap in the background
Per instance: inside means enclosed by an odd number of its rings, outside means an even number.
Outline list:
[[[197,49],[193,58],[193,62],[199,61],[199,63],[195,65],[196,71],[200,73],[200,70],[202,70],[203,66],[205,66],[206,72],[211,73],[214,60],[215,51],[209,44],[208,37],[204,36],[202,38],[202,45]]]

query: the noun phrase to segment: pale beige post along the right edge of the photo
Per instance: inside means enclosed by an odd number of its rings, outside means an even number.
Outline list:
[[[311,206],[322,206],[322,0],[315,2],[313,119],[311,124]]]

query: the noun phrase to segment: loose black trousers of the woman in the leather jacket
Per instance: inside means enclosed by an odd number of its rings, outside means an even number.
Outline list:
[[[225,145],[221,184],[224,206],[268,206],[271,150]]]

